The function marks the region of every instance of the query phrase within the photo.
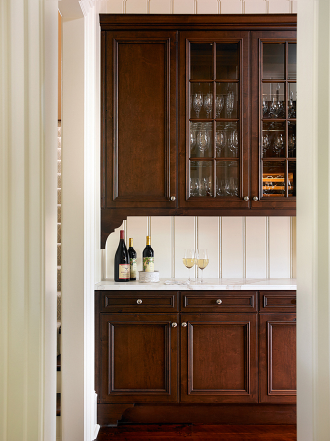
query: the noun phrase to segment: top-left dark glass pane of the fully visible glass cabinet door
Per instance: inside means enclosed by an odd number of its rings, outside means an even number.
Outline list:
[[[212,43],[190,43],[190,79],[213,80]]]

